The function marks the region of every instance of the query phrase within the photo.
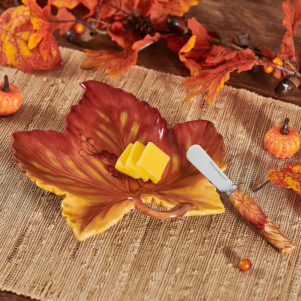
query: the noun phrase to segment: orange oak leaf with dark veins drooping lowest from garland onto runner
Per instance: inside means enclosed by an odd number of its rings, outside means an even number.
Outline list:
[[[188,93],[184,101],[209,90],[209,94],[206,96],[205,101],[210,104],[223,88],[225,82],[229,80],[231,72],[237,70],[237,72],[240,73],[242,71],[250,70],[255,62],[254,53],[251,49],[247,48],[239,51],[236,57],[225,64],[214,69],[202,70],[196,76],[186,78],[183,82],[186,88],[201,88],[196,92]]]

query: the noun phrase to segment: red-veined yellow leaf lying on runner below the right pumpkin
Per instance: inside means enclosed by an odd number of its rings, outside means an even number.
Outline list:
[[[271,169],[268,172],[268,178],[279,187],[293,188],[301,194],[301,165],[288,164],[282,170]]]

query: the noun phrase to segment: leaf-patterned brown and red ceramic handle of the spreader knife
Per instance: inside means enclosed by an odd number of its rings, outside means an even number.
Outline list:
[[[260,235],[265,237],[282,255],[287,255],[295,249],[295,245],[266,217],[261,208],[242,189],[235,189],[229,195],[229,199],[241,216],[258,229]]]

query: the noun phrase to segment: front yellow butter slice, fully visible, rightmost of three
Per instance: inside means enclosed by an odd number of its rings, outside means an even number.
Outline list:
[[[159,147],[152,142],[148,142],[136,163],[136,167],[150,178],[154,184],[157,184],[161,180],[169,160],[170,157],[161,151]]]

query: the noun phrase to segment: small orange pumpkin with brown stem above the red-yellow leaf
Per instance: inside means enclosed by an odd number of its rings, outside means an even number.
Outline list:
[[[285,159],[293,156],[300,147],[300,135],[288,126],[285,118],[282,126],[273,126],[264,136],[264,146],[269,154]]]

